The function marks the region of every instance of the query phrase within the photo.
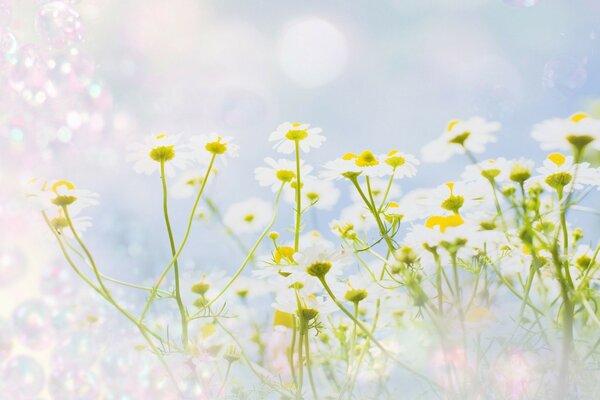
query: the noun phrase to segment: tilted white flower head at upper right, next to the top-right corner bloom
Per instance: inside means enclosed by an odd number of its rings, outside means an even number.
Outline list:
[[[481,117],[466,121],[452,120],[440,138],[423,147],[422,157],[426,162],[440,163],[456,154],[483,153],[488,143],[494,143],[494,132],[500,129],[498,122],[489,122]]]

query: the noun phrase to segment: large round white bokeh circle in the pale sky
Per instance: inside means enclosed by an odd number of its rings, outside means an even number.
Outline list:
[[[294,22],[281,37],[281,68],[302,86],[317,87],[333,81],[344,70],[347,60],[346,38],[320,18]]]

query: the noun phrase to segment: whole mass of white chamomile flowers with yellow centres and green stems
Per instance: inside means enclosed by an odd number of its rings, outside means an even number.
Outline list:
[[[478,160],[500,128],[480,117],[450,121],[421,158],[439,163],[464,155],[464,170],[452,181],[403,192],[400,184],[417,175],[416,156],[344,149],[313,167],[305,157],[325,142],[322,130],[286,122],[269,137],[282,158],[265,158],[254,170],[274,200],[246,198],[223,215],[204,188],[217,158],[237,156],[232,140],[147,138],[128,159],[137,172],[161,175],[171,256],[151,287],[126,284],[147,292],[136,312],[121,306],[112,285],[124,283],[101,273],[78,234],[89,225],[79,214],[96,195],[55,181],[34,182],[30,196],[67,262],[137,327],[175,391],[199,370],[216,370],[206,372],[220,382],[206,383],[210,398],[243,393],[249,379],[290,399],[394,398],[407,379],[414,397],[482,398],[493,388],[497,398],[564,398],[574,387],[592,396],[597,382],[585,376],[600,360],[600,243],[571,215],[598,212],[586,202],[597,202],[600,168],[586,156],[600,150],[600,121],[577,113],[535,125],[532,137],[547,151],[537,165]],[[177,169],[186,171],[169,193],[167,177]],[[342,190],[349,201],[336,207]],[[179,243],[171,194],[195,195]],[[224,268],[230,276],[180,272],[201,200],[245,252],[237,269]],[[281,212],[283,202],[291,218]],[[329,215],[321,210],[336,218],[321,223]],[[250,234],[257,235],[253,242]],[[87,269],[70,257],[75,247]],[[170,280],[173,288],[163,289]],[[177,328],[150,323],[157,299],[172,300]],[[165,361],[170,353],[186,357],[191,370],[174,374]],[[244,366],[234,371],[234,363]]]

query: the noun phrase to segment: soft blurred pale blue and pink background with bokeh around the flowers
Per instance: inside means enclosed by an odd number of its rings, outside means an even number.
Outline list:
[[[125,162],[129,143],[234,136],[240,157],[210,189],[224,206],[272,200],[252,170],[287,120],[323,128],[326,144],[307,157],[317,166],[363,148],[418,154],[448,120],[473,115],[502,122],[489,156],[541,159],[534,123],[600,113],[599,15],[597,0],[0,0],[0,381],[29,388],[26,399],[97,398],[116,368],[110,357],[99,372],[75,368],[97,361],[122,321],[28,211],[28,179],[99,193],[86,240],[105,271],[148,283],[168,260],[160,186]],[[404,189],[465,164],[423,166]],[[177,232],[188,208],[173,203]],[[237,265],[217,229],[194,232],[186,273]]]

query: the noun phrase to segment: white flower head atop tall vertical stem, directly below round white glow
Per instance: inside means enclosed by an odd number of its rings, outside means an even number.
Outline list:
[[[311,128],[309,124],[284,122],[271,133],[269,140],[276,142],[273,147],[280,153],[293,153],[296,142],[303,152],[308,153],[311,148],[317,149],[325,142],[326,138],[321,132],[321,128]]]

